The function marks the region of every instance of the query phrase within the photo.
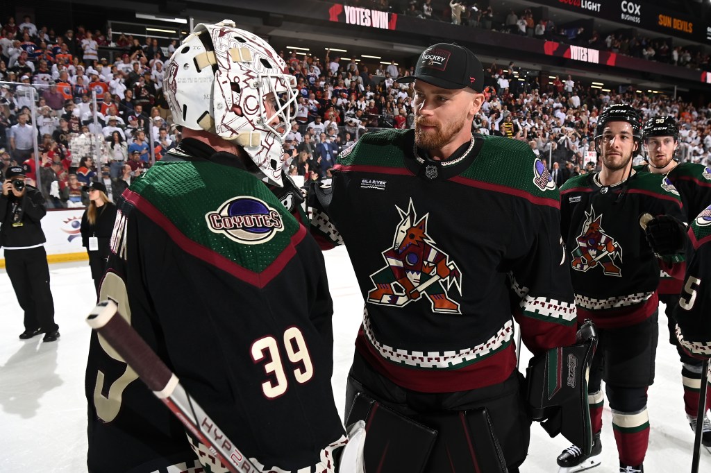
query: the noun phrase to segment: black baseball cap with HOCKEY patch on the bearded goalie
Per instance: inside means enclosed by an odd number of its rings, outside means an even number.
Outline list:
[[[419,55],[415,75],[395,80],[407,84],[422,80],[444,89],[470,89],[481,92],[484,87],[484,72],[479,58],[468,48],[455,43],[437,43]]]

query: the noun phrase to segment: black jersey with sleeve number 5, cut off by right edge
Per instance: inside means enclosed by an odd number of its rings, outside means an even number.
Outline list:
[[[676,336],[692,356],[711,358],[711,205],[690,222],[693,246],[684,289],[674,310]]]

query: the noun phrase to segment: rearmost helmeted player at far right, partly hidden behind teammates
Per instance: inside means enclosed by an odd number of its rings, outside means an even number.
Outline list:
[[[673,116],[657,116],[644,124],[643,139],[646,148],[647,165],[641,170],[664,175],[679,191],[688,222],[693,222],[702,210],[711,205],[711,169],[697,163],[679,163],[676,153],[679,146],[679,128]],[[673,311],[679,302],[684,281],[662,272],[659,285],[659,300],[666,305],[669,342],[679,352],[683,366],[681,379],[684,387],[684,408],[692,430],[696,428],[697,407],[701,389],[701,365],[699,359],[690,357],[680,347],[676,337],[676,321]],[[711,400],[711,385],[707,384],[707,402]],[[711,421],[703,419],[705,445],[711,446]]]

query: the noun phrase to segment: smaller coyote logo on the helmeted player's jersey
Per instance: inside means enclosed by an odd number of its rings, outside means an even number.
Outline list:
[[[587,219],[582,233],[577,237],[578,246],[572,252],[573,269],[585,272],[599,264],[604,275],[622,276],[620,267],[615,264],[615,260],[622,262],[622,249],[602,229],[602,214],[596,217],[591,207],[590,213],[585,212],[585,216]]]

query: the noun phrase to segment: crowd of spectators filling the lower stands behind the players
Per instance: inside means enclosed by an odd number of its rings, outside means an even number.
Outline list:
[[[115,200],[176,146],[180,133],[171,126],[163,95],[164,65],[176,41],[159,45],[156,38],[141,39],[122,35],[109,43],[102,31],[82,26],[58,35],[37,28],[29,17],[17,26],[9,18],[0,30],[0,172],[12,163],[25,165],[28,178],[39,178],[50,208],[82,206],[87,203],[82,185],[102,180]],[[113,62],[100,54],[109,44],[123,51]],[[279,54],[296,76],[299,95],[284,143],[290,175],[328,178],[338,153],[361,134],[413,126],[412,84],[395,82],[412,67],[394,61],[366,65],[328,50],[324,57]],[[708,163],[711,156],[710,109],[663,94],[605,92],[570,76],[547,80],[513,62],[487,67],[483,92],[486,100],[473,131],[527,141],[566,177],[585,172],[594,159],[588,152],[594,151],[597,114],[609,102],[629,102],[646,116],[675,116],[681,124],[680,158]]]

